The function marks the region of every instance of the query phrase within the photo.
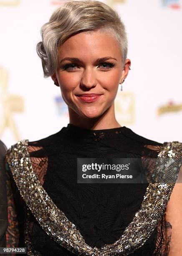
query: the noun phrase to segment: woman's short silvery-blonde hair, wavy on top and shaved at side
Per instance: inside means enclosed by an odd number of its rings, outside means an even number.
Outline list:
[[[70,36],[96,30],[108,32],[116,38],[124,67],[128,42],[125,26],[118,13],[100,1],[70,0],[55,10],[40,30],[42,41],[37,44],[37,53],[42,61],[44,77],[56,72],[59,47]]]

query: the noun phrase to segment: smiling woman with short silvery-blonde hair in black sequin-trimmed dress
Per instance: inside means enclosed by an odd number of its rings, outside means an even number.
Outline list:
[[[99,1],[68,1],[41,33],[44,76],[61,88],[70,123],[8,150],[8,245],[65,256],[167,255],[172,245],[171,255],[180,255],[182,143],[149,140],[115,118],[131,65],[118,14]],[[143,183],[77,183],[78,158],[140,159]]]

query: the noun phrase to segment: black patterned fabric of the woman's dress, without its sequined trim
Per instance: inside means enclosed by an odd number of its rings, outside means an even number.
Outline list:
[[[125,126],[87,130],[69,123],[56,134],[28,142],[28,151],[33,169],[53,202],[76,225],[89,246],[100,248],[119,239],[133,220],[149,185],[152,164],[144,161],[142,165],[144,183],[81,184],[77,183],[77,158],[154,159],[160,146],[162,143],[139,136]],[[164,212],[144,245],[129,255],[167,255],[170,229]],[[48,236],[33,214],[28,233],[37,252],[32,255],[76,255]],[[8,238],[10,241],[10,234]]]

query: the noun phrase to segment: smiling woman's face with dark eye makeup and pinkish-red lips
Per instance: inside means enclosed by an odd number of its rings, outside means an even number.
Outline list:
[[[74,58],[74,59],[73,59]],[[122,56],[109,33],[78,33],[63,43],[58,52],[58,69],[52,76],[68,108],[84,118],[97,118],[113,103],[119,83],[126,78],[130,61],[122,70]],[[80,97],[83,94],[98,97]]]

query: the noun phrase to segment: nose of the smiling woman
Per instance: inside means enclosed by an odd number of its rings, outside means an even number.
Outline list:
[[[86,87],[88,89],[95,87],[97,82],[96,82],[94,71],[91,69],[86,69],[83,72],[83,76],[80,84],[81,86]]]

